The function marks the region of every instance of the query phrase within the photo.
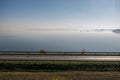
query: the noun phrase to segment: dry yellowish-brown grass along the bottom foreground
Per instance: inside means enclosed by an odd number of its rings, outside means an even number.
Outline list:
[[[120,80],[120,72],[0,72],[0,80]]]

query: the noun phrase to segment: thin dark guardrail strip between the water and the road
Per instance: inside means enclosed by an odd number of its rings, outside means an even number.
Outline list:
[[[0,51],[0,55],[120,55],[120,52],[40,52],[40,51]]]

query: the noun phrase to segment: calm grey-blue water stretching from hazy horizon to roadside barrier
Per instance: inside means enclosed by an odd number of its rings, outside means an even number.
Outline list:
[[[26,30],[0,36],[0,50],[9,51],[115,51],[120,52],[120,34],[112,31]]]

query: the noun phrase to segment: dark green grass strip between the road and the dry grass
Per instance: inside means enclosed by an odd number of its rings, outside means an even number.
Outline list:
[[[0,61],[0,71],[120,71],[120,62]]]

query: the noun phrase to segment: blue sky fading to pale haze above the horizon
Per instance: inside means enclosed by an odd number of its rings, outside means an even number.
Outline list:
[[[120,28],[120,0],[0,0],[0,32],[26,28]]]

